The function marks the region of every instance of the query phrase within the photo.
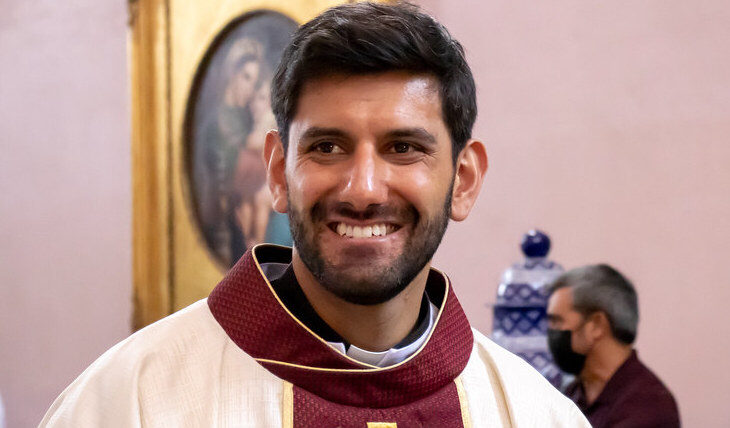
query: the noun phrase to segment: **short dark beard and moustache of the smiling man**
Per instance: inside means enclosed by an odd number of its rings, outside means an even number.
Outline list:
[[[356,212],[344,204],[326,206],[317,202],[305,217],[302,210],[288,202],[289,228],[294,246],[304,265],[327,291],[357,305],[377,305],[400,294],[423,267],[433,258],[446,232],[451,215],[451,193],[454,182],[444,197],[442,209],[430,218],[424,218],[413,205],[402,208],[371,205],[363,212]],[[318,228],[328,228],[326,214],[335,211],[342,216],[358,220],[378,218],[387,214],[407,220],[403,228],[410,227],[410,236],[400,254],[389,263],[380,266],[368,264],[367,255],[359,255],[362,263],[336,265],[323,256],[321,242],[316,238]],[[327,233],[320,231],[320,233]],[[343,238],[348,239],[348,238]],[[354,255],[358,257],[358,255]]]

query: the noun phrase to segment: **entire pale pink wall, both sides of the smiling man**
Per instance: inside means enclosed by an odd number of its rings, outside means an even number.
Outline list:
[[[435,266],[491,331],[522,234],[639,293],[637,349],[683,424],[730,423],[730,5],[422,0],[467,51],[490,157]],[[8,427],[130,333],[124,1],[4,0],[0,14],[0,395]]]

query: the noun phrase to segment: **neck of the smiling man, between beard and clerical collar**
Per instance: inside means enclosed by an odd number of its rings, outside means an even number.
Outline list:
[[[400,294],[378,305],[347,302],[322,287],[294,253],[294,274],[319,316],[348,343],[368,351],[385,351],[411,332],[418,320],[429,265]]]

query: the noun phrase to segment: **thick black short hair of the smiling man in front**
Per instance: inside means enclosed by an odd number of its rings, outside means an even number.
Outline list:
[[[476,119],[474,78],[461,44],[432,17],[404,2],[336,6],[294,33],[271,85],[284,148],[305,82],[331,74],[396,70],[430,74],[438,80],[455,162]]]

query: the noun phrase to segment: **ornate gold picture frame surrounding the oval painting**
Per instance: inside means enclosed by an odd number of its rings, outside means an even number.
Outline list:
[[[213,64],[226,32],[248,17],[284,16],[296,24],[341,3],[130,0],[135,330],[206,297],[228,268],[201,231],[195,198],[203,192],[190,185],[186,144],[198,111],[191,100],[207,73],[201,67]],[[262,50],[242,45],[237,49]]]

